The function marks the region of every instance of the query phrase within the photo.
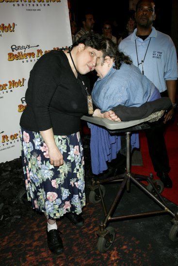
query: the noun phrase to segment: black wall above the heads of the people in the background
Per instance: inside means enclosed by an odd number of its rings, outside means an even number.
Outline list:
[[[155,3],[157,17],[154,26],[171,35],[172,0],[155,0]],[[84,10],[89,10],[94,15],[96,32],[101,32],[102,23],[106,19],[116,20],[117,30],[122,31],[129,12],[129,0],[71,0],[72,19],[75,19],[79,29]]]

